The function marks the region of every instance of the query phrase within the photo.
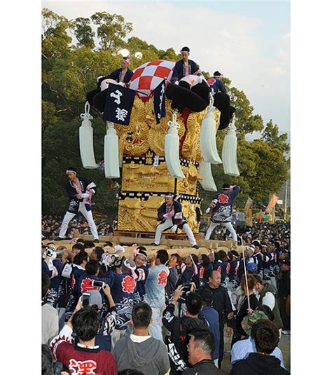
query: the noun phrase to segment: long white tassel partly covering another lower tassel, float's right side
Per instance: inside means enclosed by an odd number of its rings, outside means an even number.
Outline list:
[[[210,93],[210,104],[200,129],[200,149],[204,161],[220,164],[221,158],[216,148],[216,121],[214,120],[213,95]]]

